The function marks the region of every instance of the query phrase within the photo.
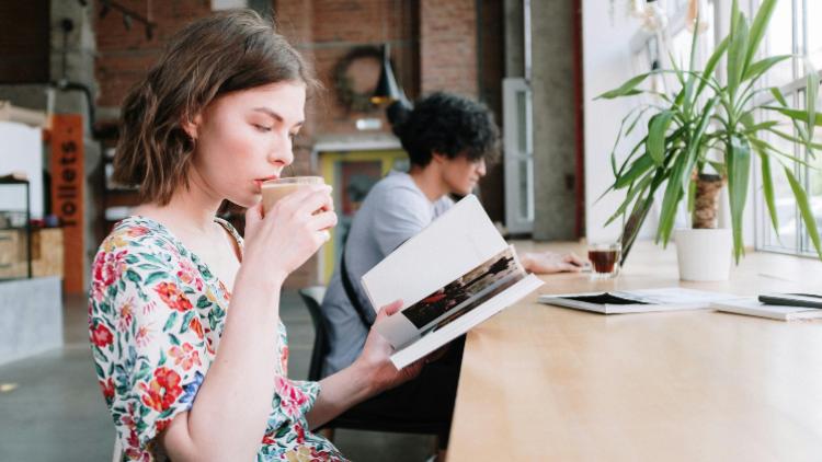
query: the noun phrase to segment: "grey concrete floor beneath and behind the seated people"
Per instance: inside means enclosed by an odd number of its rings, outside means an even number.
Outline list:
[[[85,298],[67,297],[64,307],[64,348],[0,367],[2,462],[111,460],[114,426],[88,346]],[[281,315],[288,328],[290,376],[305,379],[313,327],[296,292],[283,294]],[[353,461],[422,462],[433,453],[434,438],[336,430],[334,443]]]

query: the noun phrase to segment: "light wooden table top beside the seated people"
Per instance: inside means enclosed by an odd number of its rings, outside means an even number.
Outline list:
[[[822,460],[822,322],[708,310],[606,316],[536,302],[677,285],[820,292],[822,263],[749,252],[729,281],[688,284],[673,249],[641,243],[616,279],[544,280],[468,334],[450,462]]]

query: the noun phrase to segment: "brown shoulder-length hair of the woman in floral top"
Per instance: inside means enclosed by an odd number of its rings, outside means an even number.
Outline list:
[[[165,205],[186,177],[194,140],[183,129],[212,101],[285,81],[319,86],[313,70],[275,26],[251,10],[230,10],[180,31],[123,103],[113,180]]]

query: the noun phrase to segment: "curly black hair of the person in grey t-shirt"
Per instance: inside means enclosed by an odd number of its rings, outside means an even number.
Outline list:
[[[425,166],[434,152],[490,163],[500,151],[500,129],[488,106],[453,93],[432,93],[396,117],[393,132],[412,165]]]

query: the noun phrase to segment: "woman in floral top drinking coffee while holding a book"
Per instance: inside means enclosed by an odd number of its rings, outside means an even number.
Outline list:
[[[114,177],[142,204],[102,243],[89,307],[123,459],[339,460],[310,429],[420,371],[372,334],[339,373],[287,379],[281,287],[336,216],[327,186],[266,213],[260,187],[294,160],[313,85],[270,23],[231,11],[180,32],[126,99]],[[215,218],[224,199],[249,208],[244,242]]]

